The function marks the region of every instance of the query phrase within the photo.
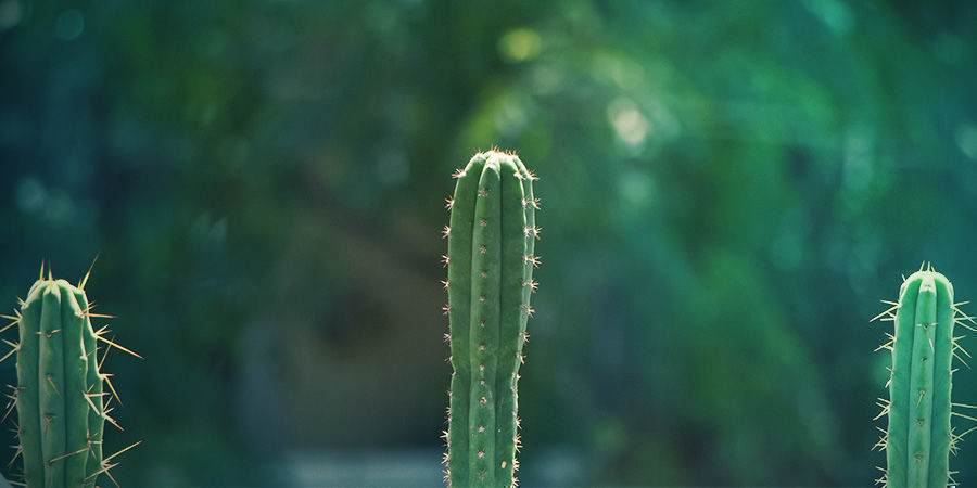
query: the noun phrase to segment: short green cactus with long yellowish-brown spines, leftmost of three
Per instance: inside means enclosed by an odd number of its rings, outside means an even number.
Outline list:
[[[111,375],[100,372],[102,362],[112,347],[139,355],[105,338],[107,326],[92,329],[91,318],[111,316],[91,312],[93,304],[85,294],[90,273],[89,269],[75,287],[54,280],[50,269],[45,279],[41,265],[27,298],[18,299],[20,309],[3,316],[12,322],[0,332],[20,325],[18,343],[3,339],[13,349],[2,360],[16,354],[17,363],[17,386],[11,386],[13,391],[7,395],[11,402],[3,418],[16,407],[20,445],[11,464],[17,455],[23,458],[27,487],[93,487],[102,473],[115,483],[109,472],[117,465],[112,460],[139,444],[102,455],[105,422],[122,429],[109,416],[109,403],[112,398],[118,401],[118,395]],[[101,361],[99,342],[109,346]]]

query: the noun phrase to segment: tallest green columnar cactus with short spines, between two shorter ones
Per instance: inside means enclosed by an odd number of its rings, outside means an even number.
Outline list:
[[[449,486],[515,486],[517,382],[536,287],[533,254],[540,229],[535,176],[519,157],[475,154],[448,198],[444,234],[448,268],[452,374],[445,480]]]

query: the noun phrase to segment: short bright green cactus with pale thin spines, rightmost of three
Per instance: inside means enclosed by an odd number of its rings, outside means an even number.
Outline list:
[[[956,454],[957,442],[969,432],[955,434],[951,416],[977,420],[957,410],[975,407],[953,403],[950,399],[953,373],[952,360],[966,365],[969,355],[959,344],[964,336],[954,336],[954,324],[974,331],[972,317],[953,303],[953,285],[947,277],[919,267],[909,278],[903,277],[898,301],[887,301],[889,308],[876,319],[892,321],[893,334],[876,350],[892,355],[892,367],[886,386],[889,399],[879,399],[881,412],[875,418],[888,418],[887,428],[875,448],[886,451],[886,467],[876,484],[888,487],[946,487],[955,484],[950,471],[950,453]],[[961,356],[963,355],[963,356]]]

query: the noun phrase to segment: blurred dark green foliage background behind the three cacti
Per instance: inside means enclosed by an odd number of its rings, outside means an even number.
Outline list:
[[[967,1],[0,0],[0,306],[101,253],[124,486],[436,485],[444,198],[498,145],[525,485],[865,486],[878,300],[977,297],[975,86]]]

